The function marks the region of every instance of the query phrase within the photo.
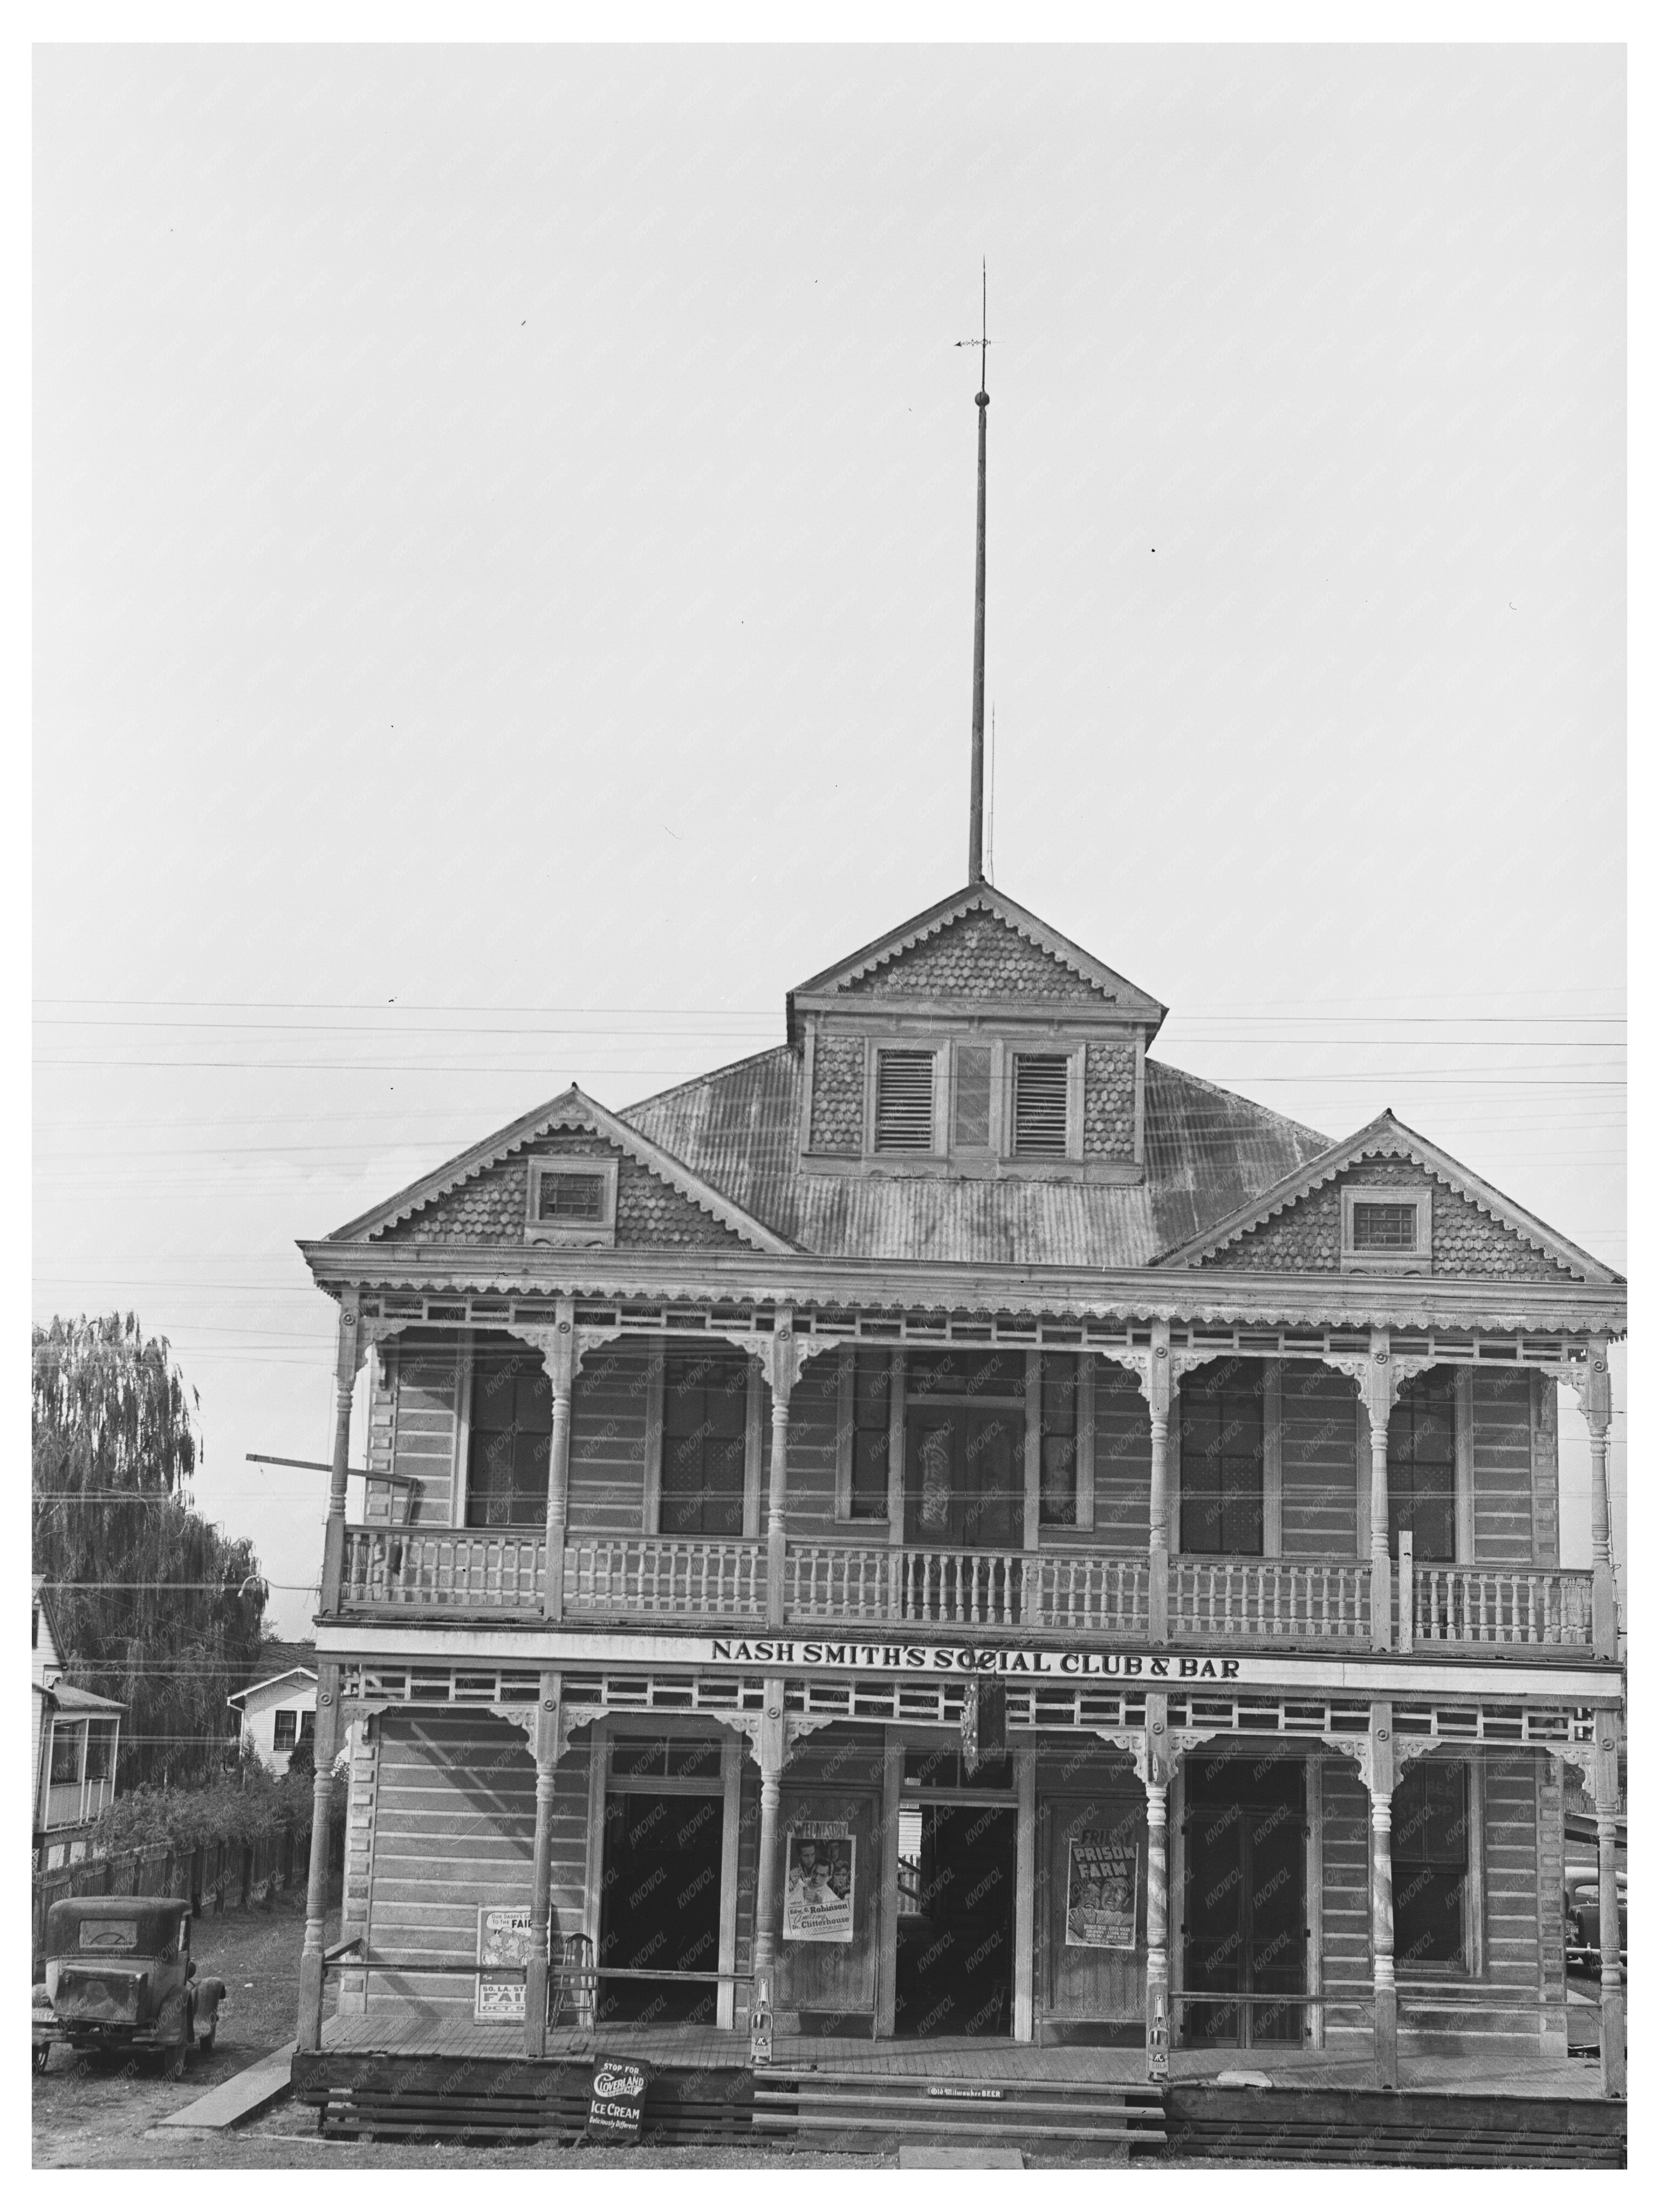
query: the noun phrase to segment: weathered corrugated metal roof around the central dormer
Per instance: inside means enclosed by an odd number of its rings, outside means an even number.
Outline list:
[[[1144,1267],[1327,1148],[1312,1128],[1146,1062],[1146,1181],[807,1175],[787,1046],[630,1106],[624,1119],[805,1252],[834,1259]]]

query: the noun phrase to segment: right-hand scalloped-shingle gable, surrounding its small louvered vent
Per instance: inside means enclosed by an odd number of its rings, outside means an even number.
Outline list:
[[[1343,1267],[1343,1190],[1354,1183],[1429,1192],[1436,1276],[1520,1283],[1617,1281],[1613,1270],[1513,1206],[1394,1115],[1383,1115],[1358,1137],[1332,1146],[1254,1203],[1164,1254],[1164,1261],[1188,1267],[1336,1274]],[[1352,1256],[1349,1270],[1354,1270]]]

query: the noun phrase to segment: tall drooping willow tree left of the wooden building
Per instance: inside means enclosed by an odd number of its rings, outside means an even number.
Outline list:
[[[33,1564],[73,1679],[126,1705],[122,1787],[215,1770],[259,1652],[254,1548],[190,1500],[199,1411],[135,1314],[33,1329]]]

